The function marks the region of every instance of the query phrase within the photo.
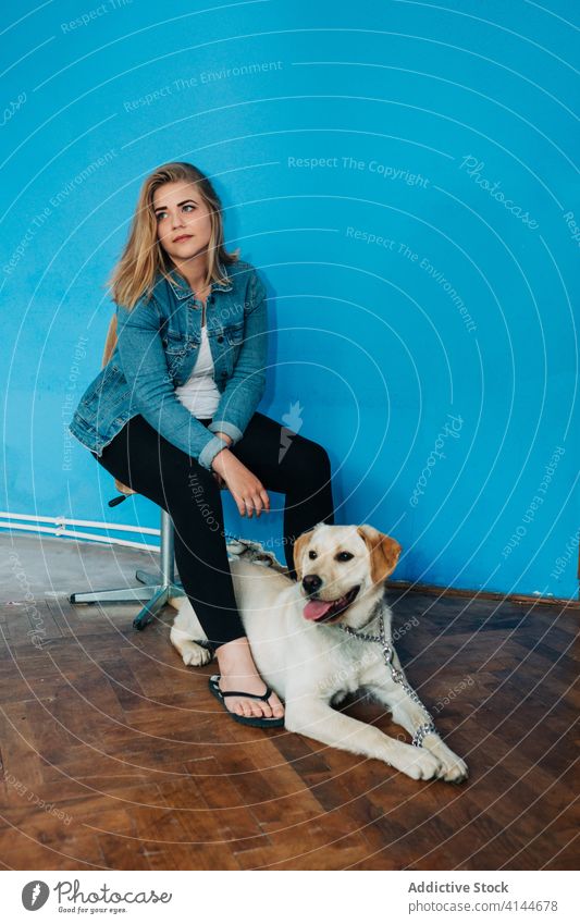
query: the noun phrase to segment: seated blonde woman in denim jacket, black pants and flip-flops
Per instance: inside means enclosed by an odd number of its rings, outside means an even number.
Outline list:
[[[284,547],[296,578],[294,541],[334,522],[331,466],[321,445],[256,410],[266,385],[266,289],[225,250],[220,199],[197,168],[166,163],[145,180],[109,282],[116,346],[71,433],[170,514],[180,578],[218,658],[222,705],[245,724],[283,725],[283,704],[264,692],[237,612],[220,488],[250,518],[270,510],[268,489],[285,494]]]

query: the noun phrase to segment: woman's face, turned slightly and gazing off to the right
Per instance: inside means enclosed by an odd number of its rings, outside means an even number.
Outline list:
[[[207,249],[210,212],[194,183],[163,183],[153,193],[153,212],[159,242],[177,263]]]

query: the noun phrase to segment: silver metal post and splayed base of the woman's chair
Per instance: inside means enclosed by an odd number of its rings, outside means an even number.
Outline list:
[[[135,577],[140,581],[139,586],[72,593],[69,596],[70,603],[132,603],[134,600],[145,602],[145,606],[133,620],[136,629],[145,629],[166,605],[170,597],[185,596],[182,584],[175,581],[173,529],[170,515],[162,509],[160,572],[158,575],[138,568]]]

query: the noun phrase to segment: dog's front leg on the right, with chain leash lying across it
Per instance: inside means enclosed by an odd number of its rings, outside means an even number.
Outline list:
[[[393,666],[397,670],[400,670],[404,682],[409,685],[396,653],[393,655]],[[397,725],[403,726],[411,736],[416,734],[421,725],[424,725],[429,720],[421,706],[415,702],[405,687],[402,683],[396,683],[391,678],[385,680],[384,683],[369,685],[369,691],[379,702],[391,710],[393,720]],[[430,731],[425,735],[421,747],[415,748],[415,750],[430,751],[440,761],[441,768],[437,776],[446,783],[462,783],[467,779],[467,764],[441,740],[437,731]]]

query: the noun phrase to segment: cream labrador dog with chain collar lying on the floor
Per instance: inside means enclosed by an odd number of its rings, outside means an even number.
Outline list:
[[[400,545],[369,525],[318,523],[294,546],[297,581],[259,543],[229,544],[234,591],[254,658],[285,703],[285,727],[334,748],[384,761],[412,779],[467,778],[465,762],[441,740],[393,649],[384,582]],[[186,665],[211,660],[187,597],[171,641]],[[412,736],[412,744],[334,710],[366,690]]]

